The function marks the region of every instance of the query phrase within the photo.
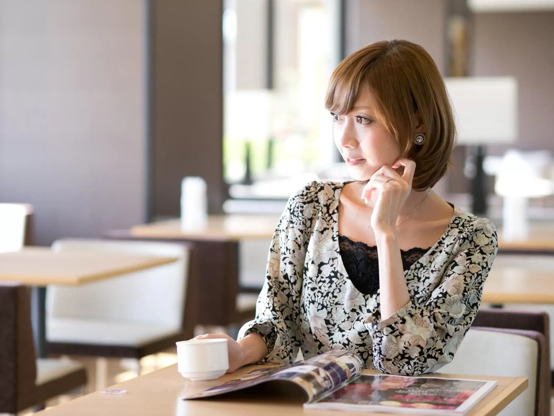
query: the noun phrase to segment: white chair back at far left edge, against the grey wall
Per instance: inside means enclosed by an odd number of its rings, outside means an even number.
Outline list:
[[[21,250],[32,213],[29,204],[0,204],[0,253]]]

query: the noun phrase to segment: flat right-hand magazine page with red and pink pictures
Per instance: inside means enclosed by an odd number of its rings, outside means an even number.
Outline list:
[[[306,408],[373,412],[464,414],[496,382],[438,377],[362,375]]]

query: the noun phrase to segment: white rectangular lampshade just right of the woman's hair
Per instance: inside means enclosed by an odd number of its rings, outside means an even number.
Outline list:
[[[458,143],[486,145],[517,139],[517,80],[513,77],[445,78]]]

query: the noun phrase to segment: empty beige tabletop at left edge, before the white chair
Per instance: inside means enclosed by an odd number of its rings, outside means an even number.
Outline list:
[[[76,286],[174,261],[177,258],[85,251],[56,252],[49,247],[25,247],[22,251],[0,253],[0,281],[29,286]]]

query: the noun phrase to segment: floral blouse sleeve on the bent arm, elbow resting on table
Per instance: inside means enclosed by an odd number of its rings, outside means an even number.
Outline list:
[[[412,297],[391,317],[380,322],[368,322],[371,317],[366,320],[376,369],[417,375],[437,371],[452,361],[479,309],[497,241],[489,220],[475,220],[452,256],[431,263],[437,269],[429,273],[438,275],[440,283],[430,298],[418,302],[417,296]]]

